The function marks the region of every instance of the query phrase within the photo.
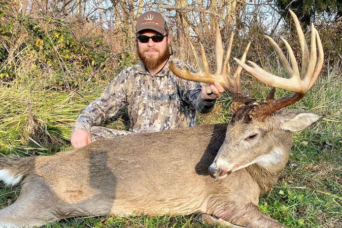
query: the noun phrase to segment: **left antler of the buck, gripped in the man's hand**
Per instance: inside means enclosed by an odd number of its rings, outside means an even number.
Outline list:
[[[223,88],[228,90],[233,95],[233,110],[235,110],[238,106],[243,105],[247,101],[251,101],[251,98],[248,94],[243,94],[243,91],[241,89],[240,85],[240,73],[243,69],[242,66],[238,66],[235,70],[235,73],[232,74],[231,68],[229,65],[229,58],[231,54],[231,48],[233,43],[233,32],[231,32],[229,45],[227,48],[227,52],[225,55],[225,59],[223,61],[223,47],[222,47],[222,39],[221,39],[221,33],[218,24],[216,24],[216,43],[215,43],[215,54],[216,54],[216,72],[215,74],[211,74],[207,62],[206,53],[204,52],[203,46],[200,43],[200,55],[201,55],[201,61],[199,60],[199,57],[192,46],[190,44],[191,49],[194,53],[196,62],[198,67],[200,68],[199,73],[192,73],[190,72],[190,69],[187,67],[186,70],[180,70],[176,67],[175,63],[171,61],[169,68],[170,70],[176,74],[178,77],[190,81],[195,82],[203,82],[203,83],[210,83],[214,84],[214,81],[219,82]],[[245,53],[243,54],[241,58],[241,62],[246,61],[246,56],[248,49],[251,45],[251,42],[247,45]]]

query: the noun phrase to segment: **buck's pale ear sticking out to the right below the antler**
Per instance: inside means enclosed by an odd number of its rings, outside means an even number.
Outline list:
[[[281,113],[281,129],[288,131],[300,131],[318,121],[321,117],[312,112],[303,110],[286,109]]]

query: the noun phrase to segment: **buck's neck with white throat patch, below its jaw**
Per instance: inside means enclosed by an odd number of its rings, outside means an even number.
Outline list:
[[[290,148],[275,147],[268,155],[259,159],[256,163],[246,167],[251,177],[260,187],[260,194],[266,193],[278,180],[288,160]]]

